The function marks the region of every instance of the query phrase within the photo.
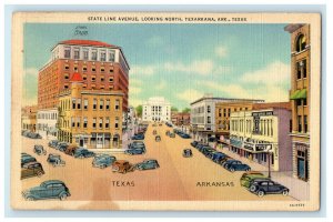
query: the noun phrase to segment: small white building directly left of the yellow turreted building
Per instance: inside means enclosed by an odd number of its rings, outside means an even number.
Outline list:
[[[38,110],[37,132],[43,139],[57,139],[58,108]]]

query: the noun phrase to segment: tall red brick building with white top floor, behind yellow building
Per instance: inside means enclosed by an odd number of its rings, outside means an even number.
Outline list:
[[[39,71],[39,110],[57,108],[58,94],[69,89],[72,74],[80,72],[83,89],[122,91],[122,110],[127,112],[130,67],[120,47],[93,40],[67,40],[57,43],[51,54],[51,60]]]

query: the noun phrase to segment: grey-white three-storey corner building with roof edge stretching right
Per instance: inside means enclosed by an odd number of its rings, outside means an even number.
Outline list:
[[[208,142],[209,138],[215,137],[215,104],[218,102],[263,102],[263,100],[215,98],[212,94],[204,94],[191,103],[191,131],[194,140]]]

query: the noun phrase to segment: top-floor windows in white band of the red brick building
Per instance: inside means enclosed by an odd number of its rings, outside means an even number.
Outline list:
[[[109,62],[114,62],[114,56],[115,56],[115,52],[113,50],[109,50],[108,51],[108,58],[107,58],[107,50],[101,50],[99,53],[98,53],[98,50],[97,49],[83,49],[82,50],[82,53],[80,53],[80,48],[74,48],[73,49],[73,54],[71,54],[71,48],[70,47],[65,47],[64,48],[64,58],[65,59],[83,59],[83,60],[93,60],[93,61],[102,61],[102,62],[105,62],[107,59]]]

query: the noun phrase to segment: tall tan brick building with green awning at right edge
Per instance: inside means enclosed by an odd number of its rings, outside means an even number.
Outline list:
[[[311,36],[309,24],[289,24],[291,33],[291,91],[293,174],[310,180]]]

